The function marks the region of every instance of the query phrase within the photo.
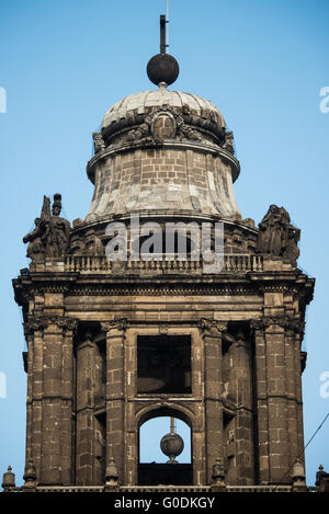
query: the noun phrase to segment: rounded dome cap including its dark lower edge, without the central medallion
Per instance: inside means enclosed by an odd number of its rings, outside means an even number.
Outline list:
[[[168,90],[161,83],[158,90],[129,94],[112,105],[101,125],[104,140],[109,141],[115,133],[143,124],[151,111],[161,107],[181,115],[184,123],[211,133],[218,140],[225,135],[224,116],[212,102],[196,94]]]

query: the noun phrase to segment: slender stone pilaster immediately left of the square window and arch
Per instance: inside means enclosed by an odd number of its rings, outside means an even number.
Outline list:
[[[106,458],[125,480],[125,318],[101,323],[106,333]]]

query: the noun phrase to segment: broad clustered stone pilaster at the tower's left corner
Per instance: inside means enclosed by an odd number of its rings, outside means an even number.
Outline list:
[[[30,316],[26,461],[33,458],[37,481],[71,483],[72,338],[77,322],[65,317]],[[69,455],[69,459],[67,456]]]

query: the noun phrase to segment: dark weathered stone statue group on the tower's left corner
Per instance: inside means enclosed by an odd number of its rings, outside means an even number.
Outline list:
[[[70,222],[59,217],[61,210],[61,195],[56,193],[50,215],[50,199],[44,196],[41,218],[35,219],[35,229],[23,238],[30,242],[26,255],[33,261],[42,261],[45,256],[58,258],[66,253]]]

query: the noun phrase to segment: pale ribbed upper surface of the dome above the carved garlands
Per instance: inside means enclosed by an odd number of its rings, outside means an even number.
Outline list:
[[[201,118],[209,119],[220,128],[225,128],[225,119],[223,115],[208,100],[192,93],[169,91],[166,88],[159,88],[155,91],[143,91],[140,93],[129,94],[116,102],[105,113],[102,122],[102,130],[121,119],[129,118],[138,114],[147,114],[154,107],[161,107],[164,105],[174,108],[179,113],[191,114]]]

